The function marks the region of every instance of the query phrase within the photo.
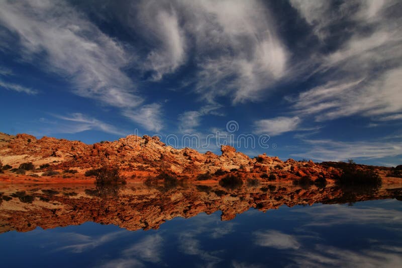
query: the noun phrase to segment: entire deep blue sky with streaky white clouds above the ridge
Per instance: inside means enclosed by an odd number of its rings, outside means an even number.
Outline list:
[[[219,131],[250,156],[398,165],[401,13],[380,0],[1,1],[0,131],[175,135],[216,153]]]

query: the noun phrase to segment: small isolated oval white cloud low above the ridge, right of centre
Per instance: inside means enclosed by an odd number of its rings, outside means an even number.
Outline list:
[[[298,116],[279,116],[271,119],[257,120],[254,122],[254,131],[258,134],[265,133],[276,136],[297,129],[300,121]]]

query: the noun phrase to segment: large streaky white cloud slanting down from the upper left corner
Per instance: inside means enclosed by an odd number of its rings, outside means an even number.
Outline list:
[[[65,77],[76,94],[118,107],[142,102],[121,71],[132,56],[64,1],[2,2],[0,25],[12,34],[2,35],[4,49],[36,65],[43,55],[40,67]]]

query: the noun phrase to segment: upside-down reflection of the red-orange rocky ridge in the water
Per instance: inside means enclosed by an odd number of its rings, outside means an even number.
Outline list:
[[[396,198],[402,200],[402,185],[347,192],[334,185],[302,189],[292,184],[243,185],[228,189],[220,185],[181,185],[177,188],[128,184],[119,189],[93,185],[0,185],[0,233],[25,232],[78,225],[87,221],[114,224],[128,230],[158,229],[175,217],[222,211],[231,220],[250,208],[266,212],[282,205],[335,204]]]

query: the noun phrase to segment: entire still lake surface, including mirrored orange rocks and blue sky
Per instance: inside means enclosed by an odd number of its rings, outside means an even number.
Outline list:
[[[0,189],[3,267],[402,266],[400,185]]]

